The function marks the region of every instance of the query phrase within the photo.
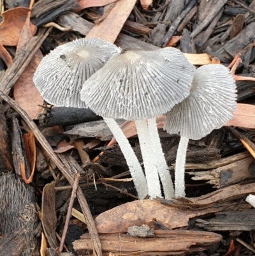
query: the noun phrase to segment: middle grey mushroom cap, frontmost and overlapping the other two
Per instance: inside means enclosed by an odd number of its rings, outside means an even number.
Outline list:
[[[108,118],[155,118],[189,95],[194,66],[175,48],[127,51],[84,84],[81,98]]]

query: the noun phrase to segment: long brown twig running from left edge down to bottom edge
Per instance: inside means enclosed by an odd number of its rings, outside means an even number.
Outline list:
[[[74,180],[73,176],[69,174],[69,172],[66,171],[66,168],[64,167],[63,163],[59,160],[57,155],[52,150],[52,147],[50,147],[50,144],[48,144],[47,140],[43,135],[41,134],[40,130],[36,126],[36,124],[30,119],[30,117],[27,115],[27,113],[21,109],[14,100],[12,100],[9,96],[4,94],[2,91],[0,91],[0,96],[3,98],[3,100],[6,103],[9,103],[13,109],[15,109],[20,116],[24,119],[27,126],[33,131],[34,137],[36,137],[36,140],[41,144],[43,148],[45,148],[45,151],[47,152],[48,156],[52,159],[52,161],[55,163],[55,165],[59,168],[59,170],[62,172],[64,177],[68,180],[68,182],[73,186]],[[91,235],[91,242],[94,249],[94,255],[95,256],[102,256],[102,250],[101,250],[101,244],[100,239],[98,236],[98,230],[96,230],[96,225],[94,223],[94,220],[91,215],[91,211],[89,210],[89,206],[87,204],[87,200],[84,197],[84,194],[82,193],[82,190],[80,187],[77,189],[77,199],[80,203],[80,207],[82,208],[82,213],[84,214],[84,218],[87,223],[87,228],[89,230],[89,234]]]

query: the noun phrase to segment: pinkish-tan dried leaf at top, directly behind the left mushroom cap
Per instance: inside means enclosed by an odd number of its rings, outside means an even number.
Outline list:
[[[92,27],[87,38],[100,38],[113,43],[120,33],[129,14],[135,6],[136,0],[119,0],[112,8],[106,18],[99,24]]]

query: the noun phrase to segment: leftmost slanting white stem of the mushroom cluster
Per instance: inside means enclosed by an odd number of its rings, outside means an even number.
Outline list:
[[[136,191],[138,193],[138,197],[140,199],[144,199],[148,195],[147,182],[145,179],[145,175],[143,174],[142,167],[136,158],[135,152],[133,148],[129,144],[128,139],[120,129],[119,125],[112,118],[104,118],[105,123],[110,128],[113,136],[117,140],[124,157],[126,158],[126,162],[129,167],[129,171],[133,178],[133,182],[135,184]]]

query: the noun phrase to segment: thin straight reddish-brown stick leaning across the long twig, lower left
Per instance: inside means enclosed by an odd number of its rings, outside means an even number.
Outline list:
[[[73,208],[73,202],[75,201],[79,181],[80,181],[80,174],[77,174],[77,177],[75,178],[75,183],[73,183],[73,190],[71,193],[71,199],[68,206],[68,213],[66,214],[66,222],[64,223],[64,230],[61,237],[61,242],[60,242],[59,248],[57,249],[57,253],[59,254],[61,254],[64,246],[64,241],[66,240],[66,233],[68,232],[69,220],[71,218],[71,210]]]

